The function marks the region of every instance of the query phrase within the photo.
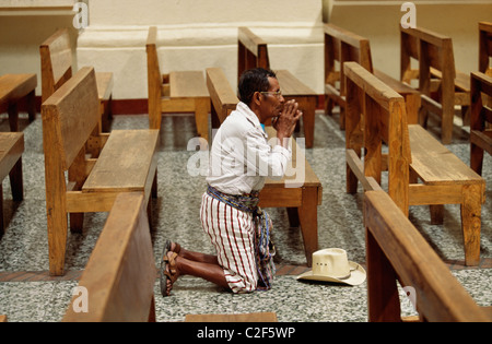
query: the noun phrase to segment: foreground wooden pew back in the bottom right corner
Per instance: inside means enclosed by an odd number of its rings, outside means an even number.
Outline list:
[[[397,280],[421,320],[492,321],[383,190],[365,192],[364,226],[368,321],[401,321]]]

